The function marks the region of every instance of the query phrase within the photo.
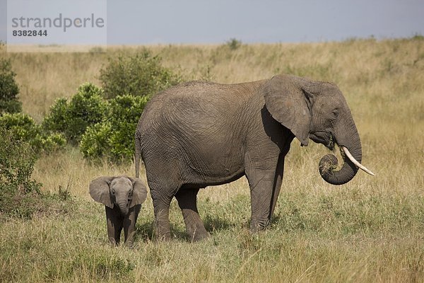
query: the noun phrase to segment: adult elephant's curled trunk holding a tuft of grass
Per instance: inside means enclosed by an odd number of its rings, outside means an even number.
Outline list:
[[[353,179],[358,172],[358,167],[351,161],[348,155],[351,155],[358,163],[362,159],[362,147],[360,145],[360,138],[358,130],[356,129],[353,119],[349,119],[347,123],[335,127],[334,139],[338,146],[348,149],[341,152],[343,156],[343,166],[340,170],[336,171],[338,161],[336,156],[327,154],[319,161],[319,174],[321,177],[332,185],[343,185]]]

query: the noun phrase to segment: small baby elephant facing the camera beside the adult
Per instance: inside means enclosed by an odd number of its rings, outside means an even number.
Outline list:
[[[124,228],[126,245],[134,243],[137,216],[146,200],[147,190],[139,178],[100,177],[90,183],[90,195],[105,204],[107,236],[113,246],[119,244]]]

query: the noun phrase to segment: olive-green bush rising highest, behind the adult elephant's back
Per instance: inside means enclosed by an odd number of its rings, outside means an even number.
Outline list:
[[[182,79],[170,69],[162,66],[158,56],[145,50],[129,57],[109,59],[109,64],[100,70],[100,81],[105,98],[116,96],[152,96]]]

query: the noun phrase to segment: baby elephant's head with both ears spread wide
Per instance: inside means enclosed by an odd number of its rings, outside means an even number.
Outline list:
[[[147,190],[139,178],[99,177],[90,183],[90,195],[96,202],[114,208],[116,204],[122,214],[146,200]]]

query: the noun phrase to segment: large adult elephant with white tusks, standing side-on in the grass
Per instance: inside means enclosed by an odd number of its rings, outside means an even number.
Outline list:
[[[339,171],[334,171],[336,156],[322,158],[320,173],[328,183],[347,183],[361,166],[358,130],[332,83],[278,75],[236,84],[192,81],[158,93],[140,117],[135,142],[136,177],[141,156],[156,236],[170,238],[174,196],[192,240],[208,236],[196,207],[199,188],[243,175],[251,194],[250,229],[264,229],[276,207],[284,158],[294,137],[303,146],[309,139],[329,149],[337,143],[351,156]]]

